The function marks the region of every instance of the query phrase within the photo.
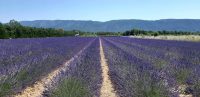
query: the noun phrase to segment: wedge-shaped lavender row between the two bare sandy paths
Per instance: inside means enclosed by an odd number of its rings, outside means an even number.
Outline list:
[[[50,91],[49,95],[52,97],[71,97],[72,95],[74,95],[74,97],[99,97],[102,82],[99,53],[99,39],[96,38],[96,40],[81,54],[81,56],[70,65],[65,76],[60,80],[58,86]],[[63,80],[73,81],[71,82],[72,85],[69,86],[63,84],[66,83],[63,82]],[[80,83],[74,83],[77,81]],[[83,85],[81,89],[79,88],[80,84]],[[61,87],[61,85],[66,86]],[[87,89],[87,96],[85,93],[80,93],[83,90],[82,88]],[[55,90],[59,92],[56,92]]]

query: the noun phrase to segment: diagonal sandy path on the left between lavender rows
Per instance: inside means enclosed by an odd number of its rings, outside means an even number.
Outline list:
[[[25,88],[25,90],[23,90],[21,93],[14,95],[14,97],[43,97],[43,92],[48,90],[48,88],[51,87],[56,82],[56,80],[58,80],[58,78],[60,78],[62,74],[68,70],[69,65],[76,58],[78,58],[81,55],[81,53],[92,44],[92,42],[85,46],[70,60],[65,62],[64,65],[52,71],[46,77],[44,77],[40,81],[37,81],[34,85]]]

